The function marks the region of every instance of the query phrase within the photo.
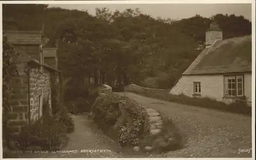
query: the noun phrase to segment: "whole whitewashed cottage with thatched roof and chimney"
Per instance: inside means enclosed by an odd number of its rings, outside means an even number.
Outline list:
[[[251,54],[251,36],[223,40],[214,22],[206,32],[205,49],[169,93],[251,105]]]

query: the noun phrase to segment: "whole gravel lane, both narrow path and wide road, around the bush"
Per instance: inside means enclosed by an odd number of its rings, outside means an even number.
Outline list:
[[[172,117],[186,145],[183,149],[163,154],[149,154],[121,149],[104,135],[85,114],[72,116],[75,131],[68,134],[69,143],[62,150],[76,153],[16,154],[19,158],[99,158],[99,157],[251,157],[239,149],[251,148],[251,118],[200,107],[118,93],[134,99],[146,108]],[[103,149],[103,150],[101,150]],[[81,151],[82,150],[82,151]],[[91,150],[91,151],[90,151]],[[98,151],[94,151],[98,150]],[[101,151],[100,151],[101,150]]]

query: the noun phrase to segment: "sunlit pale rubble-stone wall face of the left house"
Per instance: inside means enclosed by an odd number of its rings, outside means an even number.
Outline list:
[[[30,121],[33,123],[43,115],[45,108],[39,107],[40,101],[48,102],[51,110],[50,73],[42,73],[39,68],[33,68],[29,73],[30,86]]]

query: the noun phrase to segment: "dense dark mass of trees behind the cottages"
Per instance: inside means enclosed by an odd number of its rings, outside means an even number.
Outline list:
[[[170,88],[198,56],[209,24],[216,21],[223,38],[251,34],[243,16],[217,14],[210,18],[173,20],[153,18],[139,9],[87,11],[48,8],[47,5],[4,5],[4,30],[41,30],[48,47],[58,47],[59,70],[78,80],[94,77],[95,85],[136,83]],[[98,74],[99,73],[99,74]],[[79,82],[79,83],[78,83]],[[151,82],[150,82],[151,83]]]

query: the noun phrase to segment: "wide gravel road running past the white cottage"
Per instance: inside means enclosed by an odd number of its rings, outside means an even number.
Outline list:
[[[164,157],[251,157],[239,149],[251,148],[251,118],[217,110],[171,103],[133,93],[118,93],[141,105],[160,110],[174,120],[186,147]]]

